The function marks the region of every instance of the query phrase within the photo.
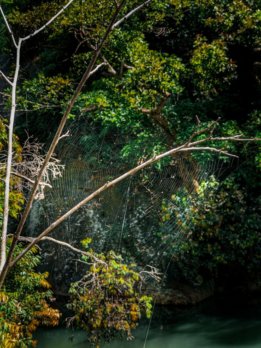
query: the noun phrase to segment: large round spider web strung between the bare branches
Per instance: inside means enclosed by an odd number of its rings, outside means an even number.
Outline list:
[[[65,170],[52,182],[53,188],[45,190],[45,199],[34,202],[37,216],[39,209],[44,211],[45,228],[104,183],[150,159],[153,150],[159,154],[184,143],[138,122],[115,124],[102,111],[79,115],[67,127],[69,136],[55,150]],[[224,179],[232,166],[237,161],[209,153],[167,156],[105,189],[49,236],[77,248],[89,237],[95,252],[113,250],[126,263],[149,264],[165,273],[166,257],[171,259],[186,236],[193,211],[200,209],[216,189],[214,181]],[[202,181],[204,195],[196,189]],[[52,269],[51,283],[66,293],[85,266],[70,248],[50,242],[43,250],[45,270]]]

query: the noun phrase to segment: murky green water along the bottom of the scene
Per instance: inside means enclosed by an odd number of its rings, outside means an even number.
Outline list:
[[[238,298],[206,301],[191,308],[156,309],[148,337],[148,321],[133,331],[133,341],[111,341],[110,348],[260,348],[261,301]],[[73,334],[74,341],[69,338]],[[86,332],[58,327],[39,329],[38,348],[89,347]]]

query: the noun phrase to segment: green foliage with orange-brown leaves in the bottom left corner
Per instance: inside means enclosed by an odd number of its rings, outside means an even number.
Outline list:
[[[7,251],[11,239],[7,240]],[[15,248],[14,256],[23,251],[22,244]],[[61,316],[46,302],[52,299],[48,272],[39,273],[34,267],[40,256],[33,247],[8,273],[0,292],[0,345],[5,348],[36,347],[32,332],[40,325],[54,326]],[[42,288],[46,289],[43,290]]]

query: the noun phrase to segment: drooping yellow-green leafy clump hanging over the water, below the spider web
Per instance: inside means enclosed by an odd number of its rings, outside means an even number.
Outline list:
[[[91,239],[82,240],[88,248]],[[127,266],[121,255],[109,251],[97,254],[88,249],[82,261],[89,265],[86,275],[72,283],[69,293],[71,300],[67,304],[75,312],[69,324],[75,319],[78,328],[88,331],[89,341],[100,346],[114,337],[132,339],[131,329],[138,325],[141,313],[151,316],[151,297],[136,292],[139,273]]]

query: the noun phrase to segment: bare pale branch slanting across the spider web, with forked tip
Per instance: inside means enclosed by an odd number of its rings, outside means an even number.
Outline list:
[[[218,120],[220,118],[218,118],[216,121],[214,121],[211,125],[209,125],[208,127],[198,130],[199,125],[200,125],[200,121],[198,119],[198,117],[196,117],[197,119],[197,126],[194,130],[194,132],[192,133],[192,135],[190,136],[189,140],[184,143],[183,145],[174,148],[172,150],[169,150],[167,152],[164,152],[160,155],[156,155],[155,151],[153,151],[153,156],[151,159],[145,161],[144,163],[136,166],[135,168],[131,169],[129,172],[119,176],[118,178],[112,180],[112,181],[108,181],[106,182],[102,187],[100,187],[98,190],[96,190],[95,192],[93,192],[91,195],[89,195],[88,197],[86,197],[85,199],[83,199],[80,203],[78,203],[76,206],[74,206],[73,208],[71,208],[67,213],[65,213],[63,216],[61,216],[58,220],[56,220],[55,222],[53,222],[44,232],[42,232],[37,238],[34,239],[34,241],[28,245],[24,251],[18,255],[16,257],[16,259],[10,263],[10,267],[9,269],[11,269],[36,243],[38,243],[43,237],[45,237],[52,229],[54,229],[58,224],[60,224],[62,221],[64,221],[65,219],[67,219],[72,213],[74,213],[75,211],[77,211],[80,207],[82,207],[84,204],[86,204],[88,201],[90,201],[91,199],[93,199],[94,197],[96,197],[99,193],[101,193],[102,191],[104,191],[106,188],[118,183],[119,181],[125,179],[126,177],[133,175],[134,173],[140,171],[140,169],[148,166],[149,164],[173,155],[173,153],[176,152],[185,152],[185,151],[200,151],[200,150],[206,150],[206,151],[210,151],[210,152],[215,152],[215,153],[221,153],[222,155],[226,155],[226,156],[230,156],[230,157],[236,157],[238,158],[238,156],[233,155],[231,153],[228,153],[227,151],[224,151],[222,149],[216,149],[216,148],[212,148],[212,147],[205,147],[205,146],[197,146],[200,145],[202,143],[206,143],[209,141],[239,141],[239,142],[245,142],[245,141],[261,141],[261,139],[259,138],[253,138],[253,139],[242,139],[241,136],[243,134],[239,134],[239,135],[235,135],[232,137],[212,137],[212,133],[213,130],[215,128],[215,125],[217,124]],[[197,140],[197,141],[193,141],[191,142],[191,140],[193,140],[193,137],[195,137],[198,134],[204,133],[204,132],[209,132],[207,137],[205,137],[204,139],[201,140]]]

